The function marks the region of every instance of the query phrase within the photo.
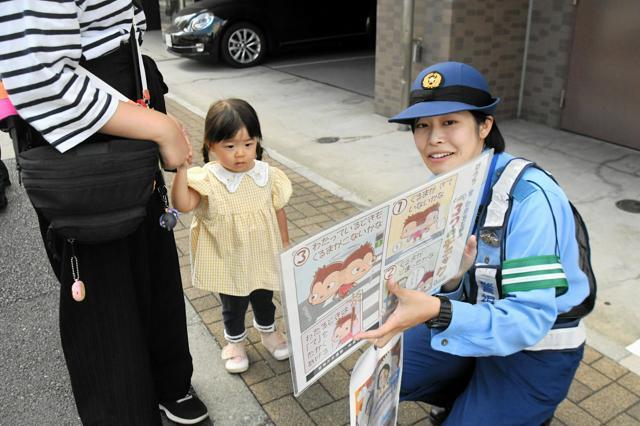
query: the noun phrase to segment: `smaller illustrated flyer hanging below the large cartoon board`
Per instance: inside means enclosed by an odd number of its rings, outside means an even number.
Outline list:
[[[382,348],[370,346],[353,367],[349,381],[351,425],[395,425],[401,377],[402,334]]]

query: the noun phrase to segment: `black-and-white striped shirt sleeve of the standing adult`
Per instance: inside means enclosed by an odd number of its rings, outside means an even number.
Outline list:
[[[13,0],[0,10],[0,77],[9,99],[65,152],[102,128],[118,106],[75,72],[82,58],[76,2]]]

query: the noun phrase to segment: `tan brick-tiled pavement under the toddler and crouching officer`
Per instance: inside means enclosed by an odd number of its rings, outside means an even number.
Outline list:
[[[177,103],[168,100],[169,112],[187,128],[194,145],[195,163],[202,162],[200,147],[203,120]],[[293,183],[293,195],[285,208],[289,235],[293,242],[305,239],[337,221],[358,212],[343,201],[300,174],[268,157],[269,163],[282,169]],[[171,177],[168,175],[167,183]],[[191,285],[189,269],[189,224],[191,215],[180,216],[175,237],[180,256],[184,293],[199,313],[218,344],[224,344],[221,306],[217,295]],[[284,329],[282,310],[277,297],[276,315]],[[349,423],[349,372],[359,352],[334,368],[299,398],[293,396],[288,361],[275,361],[259,343],[249,312],[249,370],[242,374],[244,383],[276,425],[340,425]],[[227,374],[220,371],[219,374]],[[398,423],[429,424],[429,406],[423,403],[400,405]],[[587,346],[584,359],[569,391],[558,407],[552,425],[640,425],[640,376],[630,372]]]

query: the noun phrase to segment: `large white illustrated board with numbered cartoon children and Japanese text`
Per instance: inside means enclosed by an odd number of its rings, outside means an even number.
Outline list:
[[[343,221],[280,255],[295,395],[364,342],[395,300],[392,279],[435,293],[458,271],[493,152]]]

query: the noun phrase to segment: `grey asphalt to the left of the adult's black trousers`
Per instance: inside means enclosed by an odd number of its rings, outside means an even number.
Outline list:
[[[15,160],[3,161],[13,184],[0,213],[0,424],[80,424],[60,346],[59,285]]]

